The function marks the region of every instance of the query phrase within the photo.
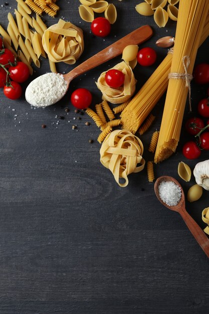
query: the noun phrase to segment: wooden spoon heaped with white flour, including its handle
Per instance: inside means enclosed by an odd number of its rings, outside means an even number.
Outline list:
[[[59,87],[54,86],[52,88],[48,88],[46,90],[45,86],[43,85],[43,89],[40,90],[39,86],[39,95],[41,96],[41,100],[37,100],[34,95],[37,91],[37,82],[43,77],[39,76],[35,80],[33,80],[29,86],[26,89],[26,100],[33,106],[36,107],[47,107],[50,105],[53,105],[57,101],[59,101],[67,92],[69,88],[70,82],[76,78],[77,76],[97,67],[98,65],[119,56],[122,54],[123,49],[128,45],[138,45],[146,40],[148,40],[152,36],[153,32],[149,25],[142,26],[138,28],[137,30],[133,31],[132,33],[126,35],[125,37],[119,39],[114,44],[108,46],[107,48],[103,49],[93,57],[89,58],[88,60],[81,63],[79,66],[77,66],[75,69],[70,71],[69,73],[63,75],[64,80],[67,83],[66,88],[60,92]],[[44,74],[44,80],[46,80],[46,76],[49,77],[51,73]],[[39,82],[40,82],[39,81]],[[40,84],[39,84],[40,85]],[[58,90],[57,90],[57,89]],[[53,94],[53,97],[52,97]],[[56,95],[56,96],[54,96]]]

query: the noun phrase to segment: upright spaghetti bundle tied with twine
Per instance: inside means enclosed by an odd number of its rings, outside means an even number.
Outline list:
[[[181,0],[168,90],[154,162],[167,159],[178,144],[190,76],[209,3]]]

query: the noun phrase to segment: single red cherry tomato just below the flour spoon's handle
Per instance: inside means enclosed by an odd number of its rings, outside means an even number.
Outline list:
[[[86,109],[92,102],[92,94],[86,88],[78,88],[72,93],[71,102],[78,109]]]

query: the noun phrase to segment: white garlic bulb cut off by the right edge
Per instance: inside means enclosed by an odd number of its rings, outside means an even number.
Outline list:
[[[196,164],[193,175],[196,183],[209,191],[209,160]]]

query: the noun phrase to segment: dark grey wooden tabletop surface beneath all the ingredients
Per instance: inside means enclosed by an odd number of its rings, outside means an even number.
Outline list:
[[[60,0],[58,18],[84,30],[85,51],[77,64],[144,24],[153,27],[154,36],[141,47],[156,48],[158,38],[174,35],[174,22],[159,29],[153,17],[139,16],[134,9],[139,2],[113,0],[118,20],[103,40],[92,36],[90,24],[81,21],[79,1]],[[1,0],[0,21],[7,27],[7,14],[14,12],[17,3],[4,3]],[[58,18],[44,17],[48,26]],[[208,62],[208,43],[199,49],[197,62]],[[154,66],[134,70],[137,90],[166,54],[156,50]],[[31,108],[24,97],[10,101],[0,91],[1,314],[208,312],[208,259],[181,217],[158,202],[146,171],[130,175],[127,188],[117,186],[99,161],[98,128],[94,123],[85,125],[91,120],[87,115],[78,120],[70,104],[73,89],[87,87],[94,108],[101,101],[94,81],[119,61],[118,57],[75,79],[65,98],[46,109]],[[68,72],[73,66],[62,64],[58,69]],[[43,60],[32,79],[47,71],[48,62]],[[194,112],[205,92],[206,88],[192,83]],[[141,137],[146,161],[153,158],[147,148],[152,132],[160,126],[163,102],[154,109],[153,126]],[[72,130],[73,124],[77,129]],[[90,138],[94,143],[88,142]],[[155,167],[156,177],[179,179],[179,161],[194,167],[195,162],[185,161],[181,154],[187,138],[182,132],[176,154]],[[204,152],[199,161],[208,156]],[[179,182],[186,193],[194,178]],[[202,228],[201,211],[207,206],[206,191],[200,201],[186,204]]]

